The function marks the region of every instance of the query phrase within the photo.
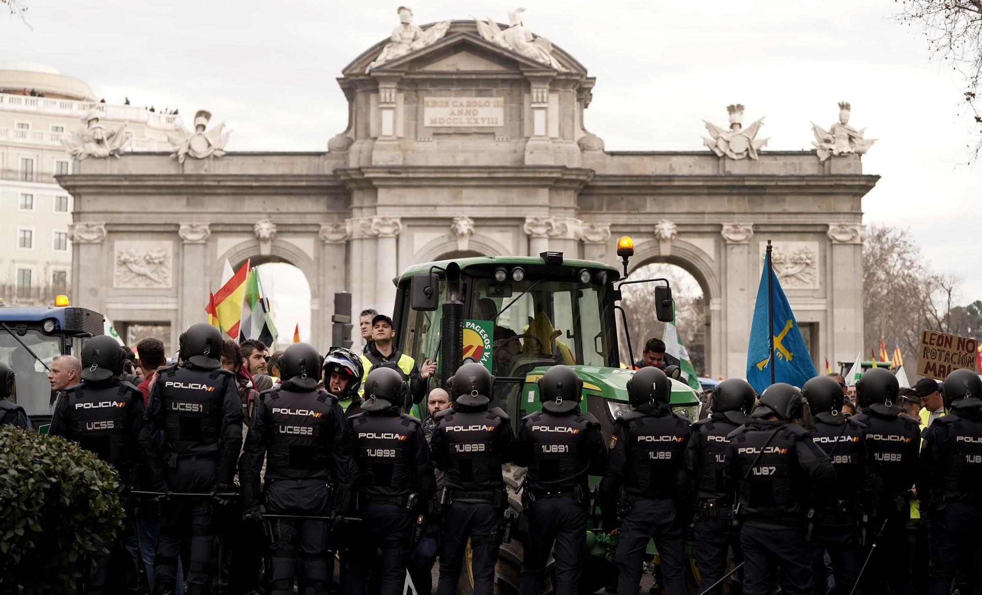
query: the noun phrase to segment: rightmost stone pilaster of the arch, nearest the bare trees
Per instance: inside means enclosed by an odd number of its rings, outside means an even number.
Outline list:
[[[832,361],[851,361],[862,349],[862,243],[866,226],[858,223],[830,223],[828,274],[828,331],[820,330],[829,342],[826,352]]]

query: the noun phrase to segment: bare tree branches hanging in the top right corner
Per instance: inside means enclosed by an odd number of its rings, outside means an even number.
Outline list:
[[[922,28],[933,59],[960,79],[959,115],[970,118],[971,160],[982,151],[982,104],[976,93],[982,82],[982,0],[902,0],[901,23]]]

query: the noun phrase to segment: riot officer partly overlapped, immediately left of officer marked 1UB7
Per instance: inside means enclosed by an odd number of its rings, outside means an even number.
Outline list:
[[[727,436],[747,422],[757,393],[747,381],[730,378],[716,387],[713,399],[710,416],[692,425],[692,437],[685,451],[685,470],[696,498],[695,562],[704,588],[726,574],[730,548],[735,560],[741,559],[739,532],[732,522],[733,490],[724,480],[730,446]],[[723,584],[707,593],[722,594]]]

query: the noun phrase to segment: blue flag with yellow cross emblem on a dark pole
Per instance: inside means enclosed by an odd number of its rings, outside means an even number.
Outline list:
[[[750,344],[746,354],[746,381],[758,393],[763,393],[764,389],[771,386],[771,366],[774,367],[774,382],[787,382],[796,387],[801,387],[809,378],[818,375],[794,320],[788,298],[771,268],[770,258],[771,254],[768,252],[760,275],[760,286],[757,288],[757,303],[753,308]],[[767,291],[768,275],[771,278],[770,296]],[[774,304],[774,353],[771,353],[768,302]]]

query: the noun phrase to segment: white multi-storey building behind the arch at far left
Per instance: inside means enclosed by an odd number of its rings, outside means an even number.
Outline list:
[[[91,108],[105,114],[106,128],[127,123],[127,151],[170,151],[167,134],[182,127],[180,115],[100,103],[88,84],[54,68],[0,62],[0,298],[7,304],[52,303],[71,291],[74,204],[55,176],[72,172],[61,139],[84,126]]]

